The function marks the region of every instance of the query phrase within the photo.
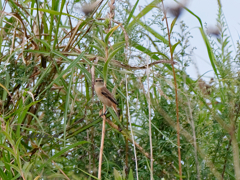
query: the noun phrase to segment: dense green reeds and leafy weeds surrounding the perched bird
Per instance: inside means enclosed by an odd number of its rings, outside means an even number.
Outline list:
[[[97,77],[120,114],[106,114],[102,179],[240,179],[240,44],[230,51],[220,1],[209,34],[194,12],[166,12],[161,0],[138,13],[139,0],[99,0],[82,13],[76,3],[0,0],[1,179],[98,179]],[[181,11],[199,22],[211,82],[186,71],[194,37]]]

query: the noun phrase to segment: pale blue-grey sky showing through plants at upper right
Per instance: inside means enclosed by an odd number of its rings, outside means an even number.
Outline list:
[[[145,6],[149,4],[151,1],[148,0],[140,0],[140,5]],[[182,1],[179,1],[182,2]],[[134,3],[134,2],[132,2]],[[174,6],[176,3],[173,0],[165,0],[164,1],[165,7],[167,6]],[[233,51],[233,55],[236,54],[237,48],[237,41],[240,39],[240,0],[221,0],[223,14],[225,16],[225,20],[228,25],[227,34],[231,35],[231,42],[230,44],[234,44],[231,47]],[[198,15],[203,25],[207,24],[207,27],[214,27],[217,24],[217,13],[218,13],[218,2],[217,0],[189,0],[187,7]],[[169,18],[169,24],[171,23],[171,18]],[[179,17],[178,22],[184,21],[185,24],[189,27],[189,31],[193,38],[190,39],[190,49],[196,47],[194,50],[194,54],[192,59],[194,60],[195,64],[198,67],[199,74],[204,75],[204,78],[210,79],[214,77],[214,73],[212,71],[210,60],[208,58],[208,53],[202,36],[198,27],[200,27],[198,20],[192,16],[187,11],[183,11],[182,15]],[[176,27],[174,27],[174,31],[178,31],[179,23],[177,23]],[[198,78],[198,73],[196,68],[193,64],[190,65],[187,69],[187,73],[193,78]]]

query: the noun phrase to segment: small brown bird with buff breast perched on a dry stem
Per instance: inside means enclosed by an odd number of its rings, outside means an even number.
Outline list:
[[[112,93],[104,86],[103,79],[97,78],[95,80],[94,89],[97,93],[99,100],[104,105],[113,108],[115,113],[118,115],[117,100],[113,97]]]

